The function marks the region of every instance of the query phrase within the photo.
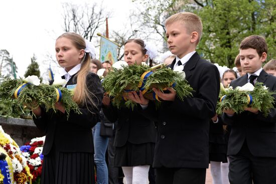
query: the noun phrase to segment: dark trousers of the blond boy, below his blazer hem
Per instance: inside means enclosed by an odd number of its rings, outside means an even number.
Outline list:
[[[205,184],[206,168],[157,168],[158,184]]]

